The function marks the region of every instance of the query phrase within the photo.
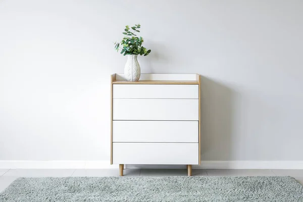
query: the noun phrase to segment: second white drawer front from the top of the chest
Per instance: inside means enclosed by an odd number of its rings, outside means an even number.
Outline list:
[[[113,99],[113,120],[198,120],[198,99]]]

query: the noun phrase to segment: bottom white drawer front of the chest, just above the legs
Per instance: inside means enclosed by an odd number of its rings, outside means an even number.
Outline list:
[[[113,164],[198,164],[198,143],[113,143]]]

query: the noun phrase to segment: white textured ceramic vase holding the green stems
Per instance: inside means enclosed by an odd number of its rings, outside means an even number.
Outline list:
[[[141,75],[138,55],[128,55],[124,68],[124,77],[127,81],[138,81]]]

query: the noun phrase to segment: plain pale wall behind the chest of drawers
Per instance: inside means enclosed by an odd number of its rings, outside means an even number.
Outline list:
[[[0,1],[0,160],[109,161],[110,74],[203,75],[202,160],[303,161],[303,1]]]

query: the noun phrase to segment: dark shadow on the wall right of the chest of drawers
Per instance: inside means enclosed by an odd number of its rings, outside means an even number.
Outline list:
[[[201,76],[201,161],[232,160],[233,94]]]

